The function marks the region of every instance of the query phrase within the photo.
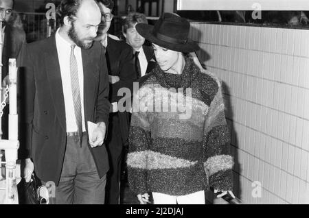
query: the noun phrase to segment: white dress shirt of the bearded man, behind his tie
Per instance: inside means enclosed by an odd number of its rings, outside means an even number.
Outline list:
[[[60,36],[59,29],[56,32],[56,47],[58,51],[63,95],[65,97],[65,118],[67,123],[67,132],[78,132],[71,88],[71,44]],[[78,64],[78,82],[80,83],[80,103],[82,104],[82,132],[85,132],[86,128],[84,121],[84,71],[82,68],[82,49],[76,46],[74,49],[74,55]]]

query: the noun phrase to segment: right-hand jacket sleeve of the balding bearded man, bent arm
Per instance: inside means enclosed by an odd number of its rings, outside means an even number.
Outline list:
[[[100,73],[99,73],[99,88],[98,101],[96,110],[96,122],[104,122],[106,128],[108,126],[108,116],[111,104],[108,101],[109,83],[108,83],[108,69],[106,65],[106,58],[104,48],[101,46],[100,54]]]

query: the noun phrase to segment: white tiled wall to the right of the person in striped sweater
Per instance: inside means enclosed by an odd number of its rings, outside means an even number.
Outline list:
[[[237,197],[308,204],[309,30],[194,22],[191,38],[223,83]],[[254,181],[261,197],[253,195]]]

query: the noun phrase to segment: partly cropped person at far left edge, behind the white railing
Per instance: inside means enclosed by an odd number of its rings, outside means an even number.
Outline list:
[[[6,84],[6,76],[8,75],[9,58],[17,58],[23,43],[25,43],[25,32],[22,29],[12,27],[8,24],[12,16],[14,8],[14,0],[0,1],[0,21],[2,22],[1,39],[2,41],[2,78],[3,85]],[[2,120],[2,138],[8,139],[8,107],[3,109]]]

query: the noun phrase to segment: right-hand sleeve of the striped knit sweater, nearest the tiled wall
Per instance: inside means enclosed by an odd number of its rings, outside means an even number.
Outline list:
[[[211,101],[204,123],[204,167],[209,186],[220,191],[231,191],[233,158],[230,156],[230,135],[220,82],[217,83],[218,91]]]

